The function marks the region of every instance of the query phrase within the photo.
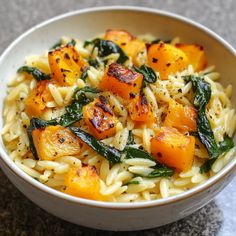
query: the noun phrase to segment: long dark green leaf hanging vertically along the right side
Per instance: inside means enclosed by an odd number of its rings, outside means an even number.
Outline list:
[[[234,146],[233,139],[225,137],[224,141],[217,144],[211,129],[210,122],[206,116],[206,105],[211,98],[211,86],[201,77],[185,76],[186,82],[191,81],[193,91],[195,92],[194,106],[198,108],[197,116],[197,135],[201,143],[206,147],[210,159],[201,166],[201,173],[208,172],[215,160],[224,152],[228,151]]]

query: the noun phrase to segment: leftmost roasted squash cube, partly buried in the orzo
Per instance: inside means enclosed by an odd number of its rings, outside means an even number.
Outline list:
[[[36,87],[25,99],[25,111],[30,117],[42,115],[46,108],[46,103],[52,101],[52,95],[48,89],[49,81],[39,81]]]

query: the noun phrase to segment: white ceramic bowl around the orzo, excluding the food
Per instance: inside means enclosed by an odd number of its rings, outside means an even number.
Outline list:
[[[41,54],[61,36],[82,40],[108,28],[124,28],[135,35],[151,33],[204,46],[209,64],[216,65],[224,85],[232,84],[236,52],[221,37],[175,14],[138,7],[102,7],[67,13],[33,27],[15,40],[0,58],[0,109],[6,84],[30,54]],[[232,100],[235,101],[236,93]],[[235,103],[236,104],[236,103]],[[3,120],[1,116],[0,127]],[[179,220],[207,204],[233,178],[236,158],[204,184],[166,199],[137,203],[108,203],[76,198],[49,188],[20,170],[9,158],[1,140],[0,164],[12,183],[34,203],[67,221],[105,230],[140,230]]]

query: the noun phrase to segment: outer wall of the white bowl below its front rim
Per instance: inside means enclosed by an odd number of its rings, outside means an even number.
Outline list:
[[[212,200],[235,175],[235,171],[232,169],[217,184],[181,201],[147,208],[119,209],[88,206],[57,198],[24,181],[11,171],[1,159],[0,162],[2,162],[3,170],[11,182],[47,212],[75,224],[115,231],[149,229],[182,219]]]

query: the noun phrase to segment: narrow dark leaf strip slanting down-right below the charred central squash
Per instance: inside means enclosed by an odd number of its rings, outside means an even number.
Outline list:
[[[70,130],[89,147],[91,147],[95,152],[107,158],[111,164],[121,162],[121,151],[105,145],[103,142],[97,140],[91,134],[86,133],[78,127],[70,127]]]

